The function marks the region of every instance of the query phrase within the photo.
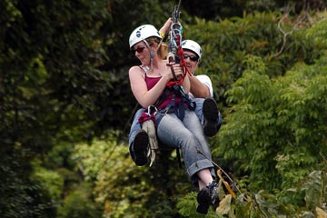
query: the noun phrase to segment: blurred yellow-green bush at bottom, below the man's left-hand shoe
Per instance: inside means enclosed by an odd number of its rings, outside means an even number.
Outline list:
[[[85,178],[94,181],[94,195],[104,204],[104,217],[171,217],[177,213],[173,205],[178,196],[190,189],[183,169],[174,167],[175,159],[162,157],[151,168],[137,167],[128,148],[114,137],[78,144],[74,156]]]

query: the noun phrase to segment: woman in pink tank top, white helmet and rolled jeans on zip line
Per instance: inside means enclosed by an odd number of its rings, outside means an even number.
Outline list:
[[[163,59],[166,46],[153,25],[137,27],[130,35],[129,45],[141,62],[141,65],[134,65],[129,70],[134,97],[142,107],[154,105],[158,109],[155,114],[158,139],[166,146],[182,150],[186,172],[200,189],[197,211],[207,213],[210,204],[218,200],[218,189],[203,126],[192,104],[187,101],[189,75],[183,77],[184,70],[180,64],[173,64],[172,68],[167,65],[168,61]],[[174,78],[183,83],[168,88],[167,84]],[[131,144],[131,155],[137,165],[146,163],[147,149],[145,144],[139,147]]]

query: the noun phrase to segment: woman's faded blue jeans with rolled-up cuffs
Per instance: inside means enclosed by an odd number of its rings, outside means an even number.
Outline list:
[[[157,114],[157,135],[161,143],[173,148],[180,148],[186,172],[194,184],[198,183],[197,172],[210,169],[215,178],[212,156],[208,141],[203,134],[203,126],[197,115],[185,110],[183,121],[175,114]]]

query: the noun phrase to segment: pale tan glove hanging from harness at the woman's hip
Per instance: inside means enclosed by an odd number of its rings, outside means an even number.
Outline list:
[[[155,133],[155,127],[154,127],[154,122],[150,119],[147,121],[144,121],[142,124],[142,129],[148,134],[149,136],[149,144],[150,144],[150,166],[154,163],[155,160],[155,152],[159,149],[158,146],[158,141],[156,138],[156,133]]]

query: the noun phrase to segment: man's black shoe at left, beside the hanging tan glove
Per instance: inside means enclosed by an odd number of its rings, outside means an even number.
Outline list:
[[[149,136],[144,130],[140,130],[130,147],[130,154],[134,163],[143,166],[148,162]]]

